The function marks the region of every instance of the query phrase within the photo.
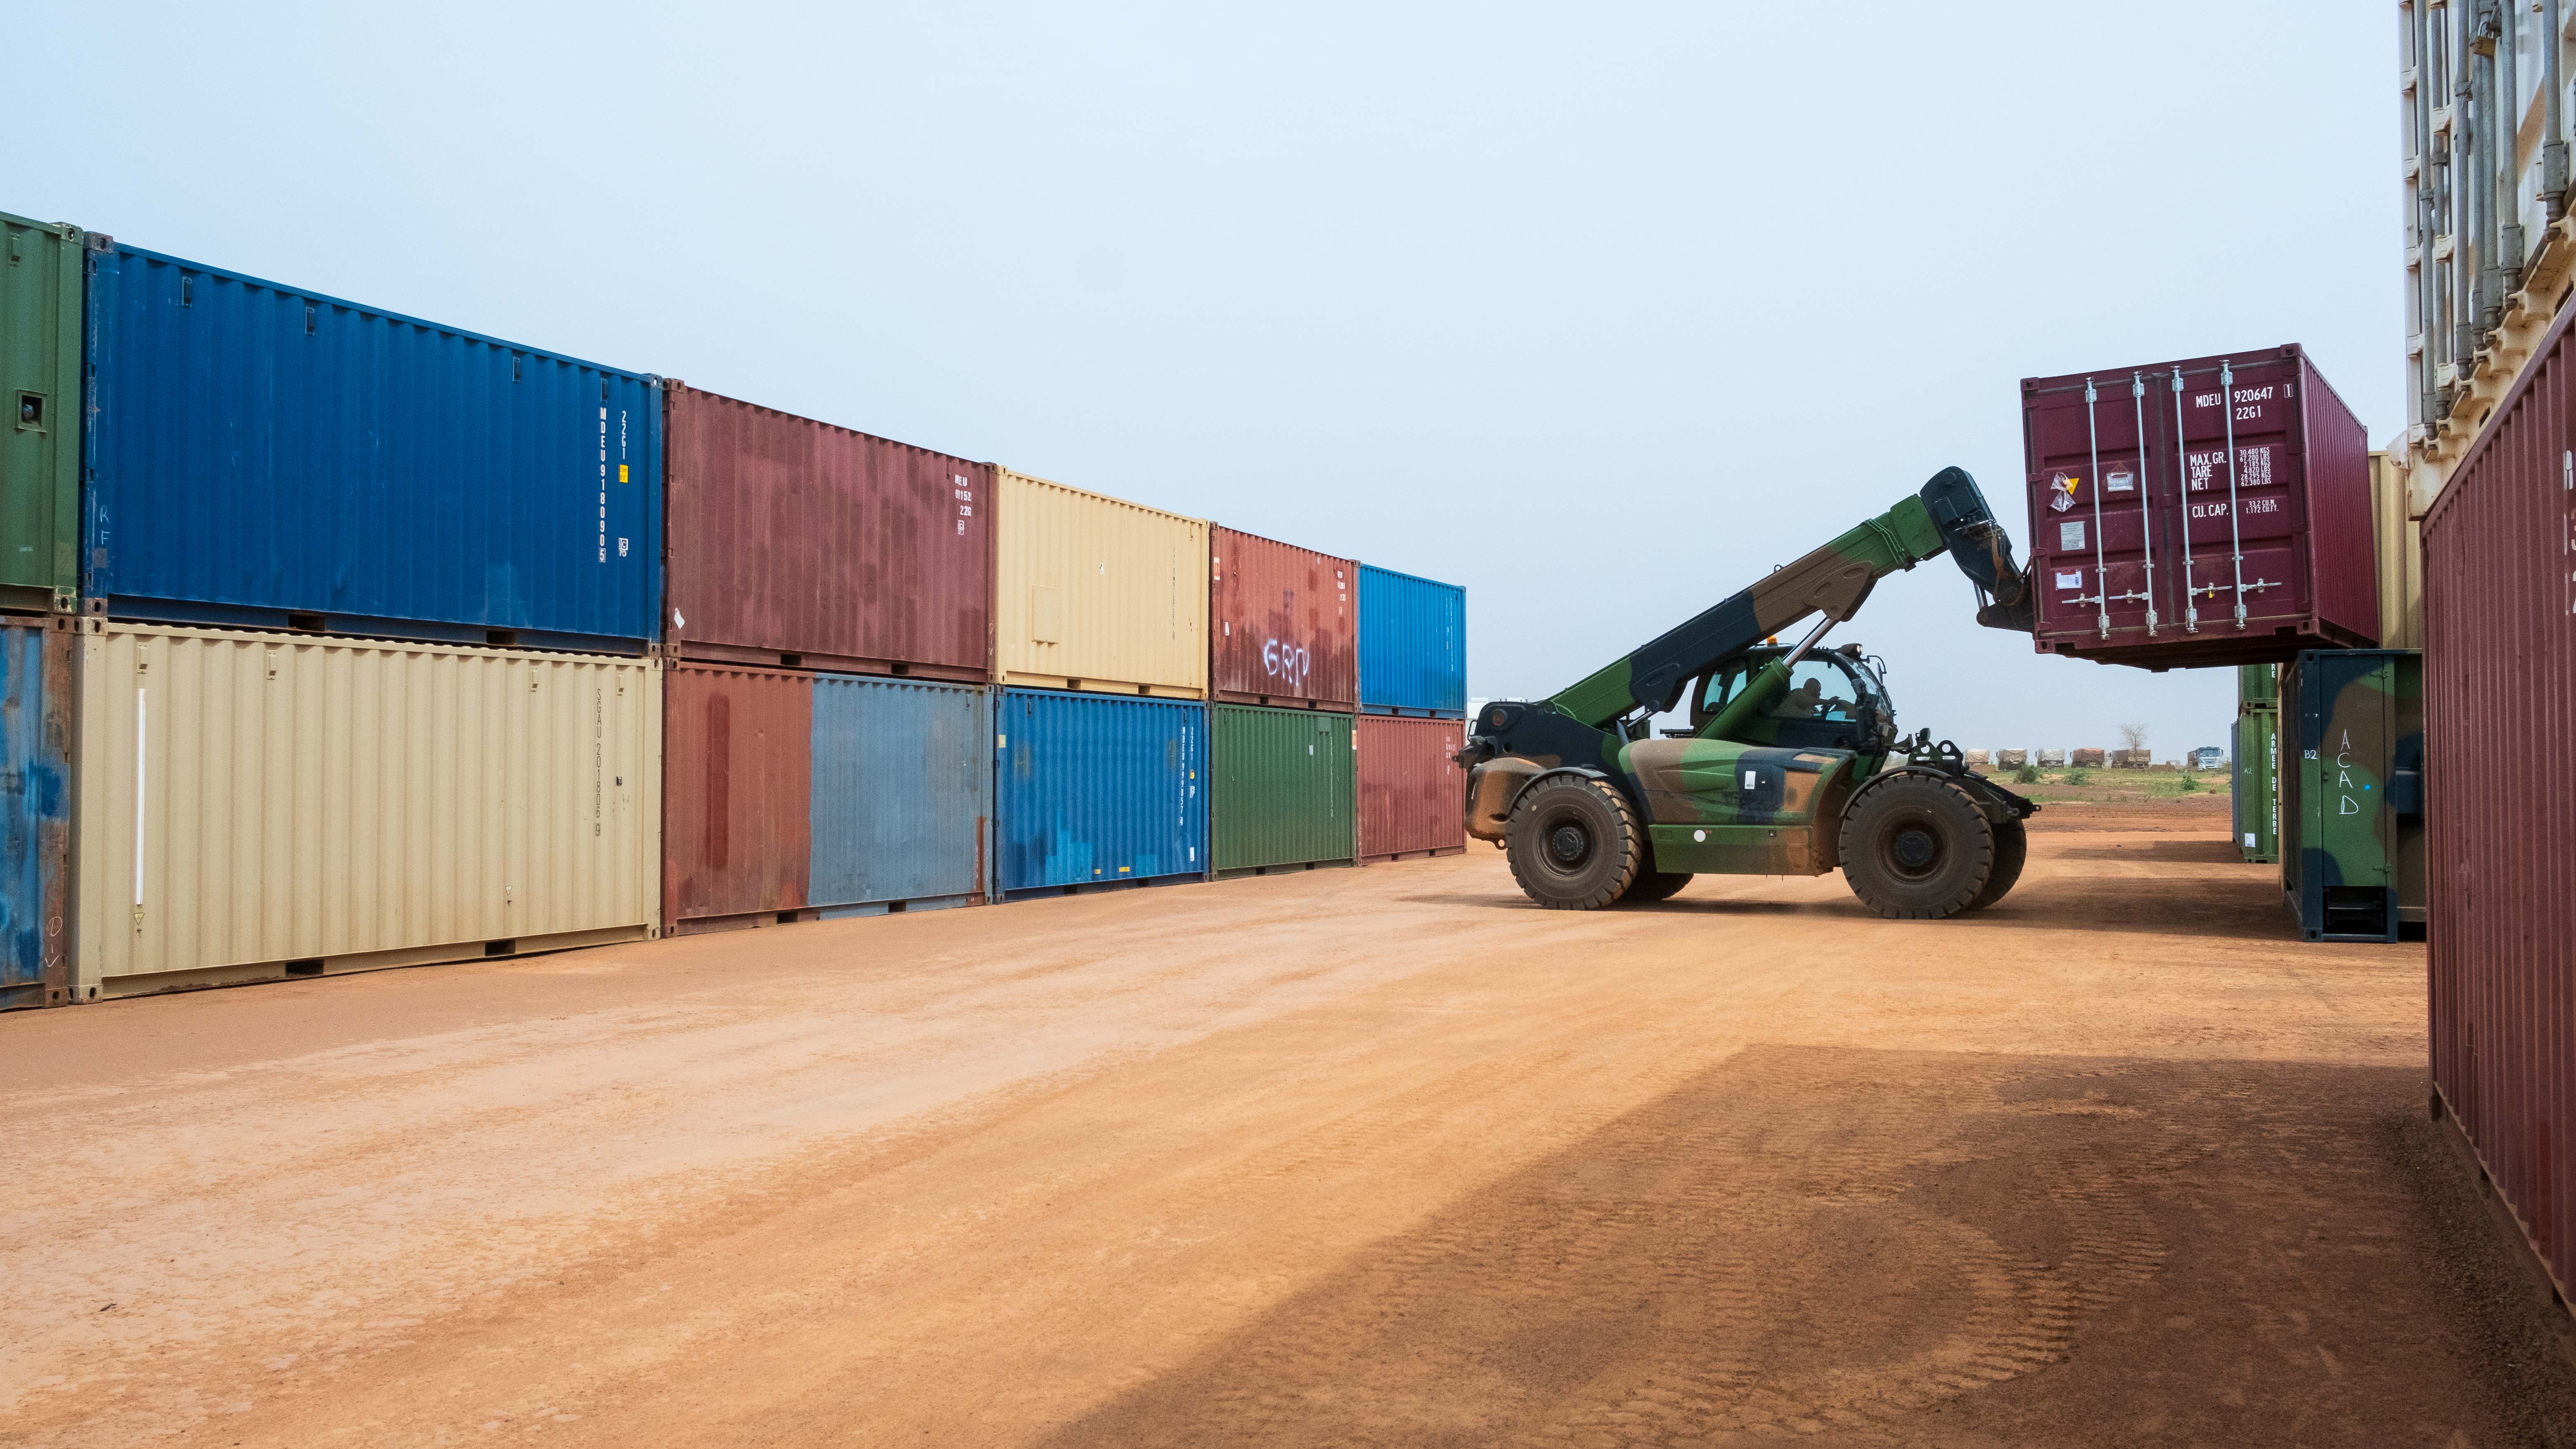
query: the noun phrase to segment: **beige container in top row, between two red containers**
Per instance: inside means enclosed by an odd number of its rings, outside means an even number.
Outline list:
[[[1208,523],[994,469],[994,678],[1206,699]]]

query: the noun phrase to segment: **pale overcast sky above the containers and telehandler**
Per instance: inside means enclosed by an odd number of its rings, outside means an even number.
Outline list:
[[[1548,694],[2017,382],[2306,343],[2403,423],[2396,10],[8,5],[0,209],[1468,588]],[[1963,745],[2226,743],[1947,562],[1834,642]]]

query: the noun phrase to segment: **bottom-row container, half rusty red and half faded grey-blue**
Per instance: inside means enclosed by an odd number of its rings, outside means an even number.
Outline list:
[[[989,694],[672,665],[662,923],[768,926],[984,890]]]

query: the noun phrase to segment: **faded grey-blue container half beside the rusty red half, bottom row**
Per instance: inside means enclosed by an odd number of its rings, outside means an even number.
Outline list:
[[[806,900],[827,920],[889,900],[963,905],[984,890],[989,730],[981,688],[814,676]]]

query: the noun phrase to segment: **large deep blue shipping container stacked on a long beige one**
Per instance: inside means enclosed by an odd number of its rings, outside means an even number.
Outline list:
[[[90,253],[88,307],[93,614],[654,637],[652,376],[113,242]]]

